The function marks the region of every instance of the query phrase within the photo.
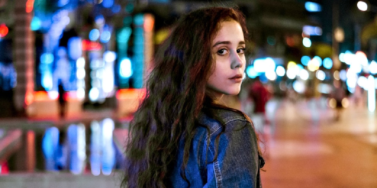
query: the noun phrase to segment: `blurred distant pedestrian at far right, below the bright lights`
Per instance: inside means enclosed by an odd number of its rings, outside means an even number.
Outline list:
[[[339,80],[334,80],[334,89],[331,92],[331,97],[335,99],[335,115],[334,119],[339,121],[342,110],[343,110],[343,99],[346,98],[346,92],[342,87],[342,83]]]

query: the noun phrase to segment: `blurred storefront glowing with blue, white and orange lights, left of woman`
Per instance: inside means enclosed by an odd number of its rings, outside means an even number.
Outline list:
[[[154,16],[135,12],[136,4],[113,0],[5,2],[3,7],[13,8],[17,15],[7,23],[14,30],[7,36],[14,46],[14,58],[9,60],[13,62],[5,62],[18,73],[12,87],[15,110],[28,116],[54,116],[60,82],[67,91],[68,115],[83,107],[135,109],[124,107],[130,103],[122,101],[136,100],[138,95],[124,97],[127,92],[119,91],[142,93],[153,55],[154,27]],[[1,31],[2,27],[5,24]],[[8,70],[6,64],[2,72]]]

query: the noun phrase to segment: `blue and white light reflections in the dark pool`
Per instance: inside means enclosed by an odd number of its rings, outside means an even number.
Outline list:
[[[114,121],[106,118],[90,122],[90,130],[80,123],[70,124],[66,133],[57,127],[47,128],[42,138],[45,170],[82,174],[90,168],[95,176],[111,174],[119,168],[117,162],[121,162],[121,154],[113,144],[114,127]]]

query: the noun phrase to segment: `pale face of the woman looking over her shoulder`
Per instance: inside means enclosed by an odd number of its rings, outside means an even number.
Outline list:
[[[245,70],[245,40],[241,25],[232,21],[220,23],[220,30],[211,43],[215,67],[207,81],[207,91],[220,98],[237,95]]]

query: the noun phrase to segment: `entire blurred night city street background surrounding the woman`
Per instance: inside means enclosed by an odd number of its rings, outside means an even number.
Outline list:
[[[223,100],[260,132],[263,187],[377,188],[377,0],[0,0],[0,188],[119,187],[157,50],[212,6],[245,16]]]

